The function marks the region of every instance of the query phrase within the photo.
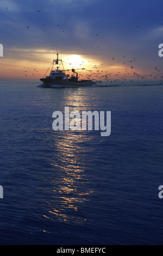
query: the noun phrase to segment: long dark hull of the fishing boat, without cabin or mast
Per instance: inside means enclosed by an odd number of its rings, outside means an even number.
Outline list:
[[[66,81],[66,80],[54,80],[52,78],[41,78],[41,82],[44,84],[51,85],[51,84],[57,84],[59,86],[64,86],[64,87],[86,87],[86,86],[91,86],[92,85],[92,80],[83,80],[83,81]]]

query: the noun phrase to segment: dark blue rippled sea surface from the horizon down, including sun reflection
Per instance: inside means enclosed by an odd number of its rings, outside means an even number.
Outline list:
[[[163,86],[0,82],[0,245],[162,245]],[[111,111],[111,135],[54,111]]]

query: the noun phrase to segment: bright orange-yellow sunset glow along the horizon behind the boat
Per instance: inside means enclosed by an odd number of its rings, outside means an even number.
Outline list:
[[[11,49],[4,57],[0,58],[0,80],[36,80],[42,78],[49,66],[56,58],[56,53],[47,49]],[[113,62],[110,60],[100,60],[92,56],[80,54],[59,54],[65,70],[79,69],[79,79],[89,79],[95,81],[111,80],[131,80],[135,74],[145,76],[145,72],[139,69],[131,69],[129,65]],[[54,66],[54,69],[56,67]],[[85,69],[85,70],[82,70]],[[47,75],[49,75],[48,70]],[[71,73],[67,71],[66,73]],[[153,71],[151,71],[153,74]],[[144,79],[145,79],[144,78]]]

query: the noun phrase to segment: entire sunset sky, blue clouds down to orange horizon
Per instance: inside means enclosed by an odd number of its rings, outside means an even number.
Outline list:
[[[83,77],[161,80],[162,7],[162,0],[1,0],[0,80],[39,80],[57,47],[65,69],[86,68]]]

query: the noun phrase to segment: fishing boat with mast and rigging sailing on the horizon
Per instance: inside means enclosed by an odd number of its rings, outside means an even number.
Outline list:
[[[54,65],[61,66],[61,69],[59,66],[57,66],[57,69],[53,70]],[[52,66],[52,69],[51,69]],[[49,69],[51,69],[51,72],[49,76],[46,76],[46,74],[43,76],[43,78],[40,79],[41,82],[43,82],[43,85],[45,87],[53,87],[53,84],[58,86],[64,86],[64,87],[86,87],[92,85],[92,80],[79,80],[78,79],[78,73],[76,70],[79,69],[64,69],[64,65],[62,63],[62,60],[59,58],[59,53],[57,53],[57,59],[54,59],[51,66],[49,66]],[[84,68],[82,69],[84,70]],[[66,71],[72,71],[72,75],[65,74]],[[46,76],[46,77],[45,77]]]

